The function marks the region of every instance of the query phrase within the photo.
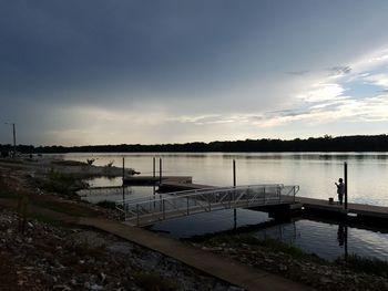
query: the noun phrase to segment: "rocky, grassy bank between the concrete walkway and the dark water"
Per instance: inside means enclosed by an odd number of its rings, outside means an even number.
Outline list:
[[[244,235],[219,236],[192,245],[317,290],[388,290],[386,277],[355,272],[345,262],[334,263],[314,254],[293,256],[288,251],[273,250]]]

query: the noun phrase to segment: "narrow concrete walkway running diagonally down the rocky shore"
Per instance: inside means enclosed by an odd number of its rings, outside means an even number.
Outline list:
[[[118,221],[101,218],[80,218],[78,224],[113,233],[246,290],[315,290],[276,274],[238,263],[225,257],[190,247],[178,240],[162,237]]]

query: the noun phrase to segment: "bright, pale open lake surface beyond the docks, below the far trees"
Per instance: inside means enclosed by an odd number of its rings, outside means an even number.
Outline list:
[[[298,185],[303,197],[328,199],[336,197],[335,181],[344,176],[348,163],[348,200],[350,202],[388,206],[388,153],[142,153],[142,154],[67,154],[65,159],[85,162],[95,158],[95,165],[134,168],[142,175],[152,175],[153,157],[162,158],[163,175],[192,176],[197,184],[231,186],[232,165],[236,160],[237,185],[284,184]],[[121,178],[100,178],[94,186],[120,185]],[[151,193],[150,193],[151,194]]]

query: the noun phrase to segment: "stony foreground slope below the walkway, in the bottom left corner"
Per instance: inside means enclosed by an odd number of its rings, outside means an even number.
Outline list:
[[[119,238],[0,208],[0,290],[241,290]]]

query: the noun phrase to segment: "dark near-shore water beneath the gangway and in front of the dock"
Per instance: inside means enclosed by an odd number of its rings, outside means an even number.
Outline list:
[[[237,227],[268,221],[267,214],[237,210]],[[174,238],[191,238],[222,230],[233,229],[233,210],[183,217],[173,221],[160,222],[153,230],[167,233]],[[378,258],[388,261],[388,233],[380,233],[338,224],[326,224],[309,219],[282,224],[251,232],[261,240],[272,238],[294,243],[307,253],[315,253],[327,260],[335,260],[347,252],[358,256]],[[345,236],[347,232],[347,243]]]

